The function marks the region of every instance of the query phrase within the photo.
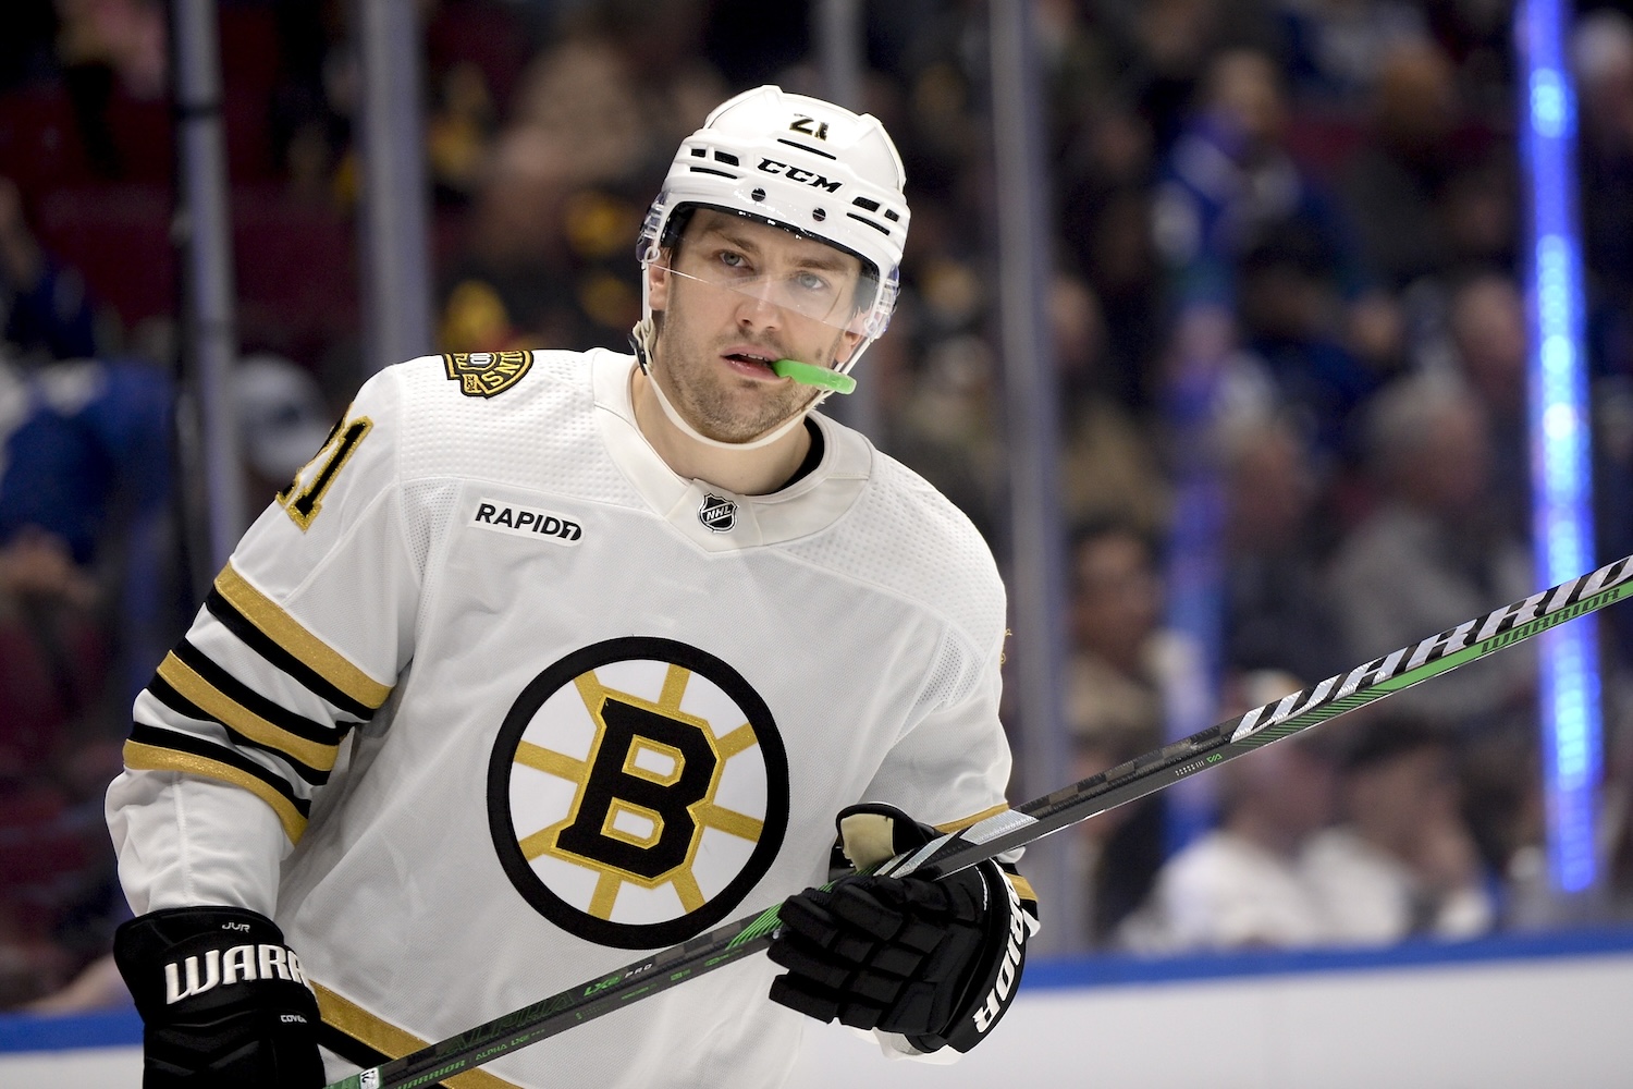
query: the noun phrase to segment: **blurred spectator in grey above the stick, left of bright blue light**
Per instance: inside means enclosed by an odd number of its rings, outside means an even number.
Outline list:
[[[1399,379],[1378,393],[1368,423],[1378,506],[1333,563],[1350,661],[1517,601],[1533,586],[1527,547],[1491,503],[1491,431],[1468,385],[1444,374]],[[1535,653],[1522,647],[1395,700],[1493,736],[1497,718],[1527,713],[1533,679]]]

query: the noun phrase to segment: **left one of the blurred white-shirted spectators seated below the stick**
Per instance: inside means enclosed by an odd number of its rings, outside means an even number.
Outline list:
[[[1218,776],[1220,825],[1163,865],[1120,942],[1141,953],[1328,942],[1300,852],[1331,816],[1331,759],[1295,736],[1204,774]]]

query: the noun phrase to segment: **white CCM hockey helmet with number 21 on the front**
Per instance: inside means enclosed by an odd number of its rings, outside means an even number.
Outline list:
[[[692,207],[714,207],[825,242],[862,261],[857,358],[890,323],[900,292],[908,204],[901,157],[872,114],[758,87],[717,106],[681,142],[647,211],[637,256],[671,248]],[[645,317],[652,317],[647,305]]]

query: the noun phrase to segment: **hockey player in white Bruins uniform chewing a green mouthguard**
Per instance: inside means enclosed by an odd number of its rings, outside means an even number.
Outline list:
[[[361,389],[137,699],[108,792],[149,1089],[318,1086],[320,1043],[338,1078],[790,896],[776,963],[451,1084],[779,1084],[785,1007],[906,1055],[985,1037],[1034,926],[1012,870],[808,888],[836,813],[865,864],[1009,774],[990,552],[810,411],[890,317],[901,188],[874,118],[740,95],[645,220],[634,358]]]

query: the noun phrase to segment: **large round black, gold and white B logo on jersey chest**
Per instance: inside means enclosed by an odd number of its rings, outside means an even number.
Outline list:
[[[488,825],[516,890],[601,945],[673,945],[766,875],[789,820],[771,710],[732,666],[616,638],[523,689],[488,764]]]

